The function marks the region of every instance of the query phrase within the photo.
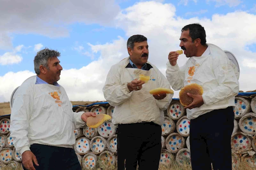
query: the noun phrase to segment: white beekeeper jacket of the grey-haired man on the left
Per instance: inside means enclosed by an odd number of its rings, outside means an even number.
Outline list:
[[[10,132],[16,150],[22,154],[31,144],[72,148],[84,112],[72,111],[61,85],[35,83],[36,76],[28,78],[14,95]]]

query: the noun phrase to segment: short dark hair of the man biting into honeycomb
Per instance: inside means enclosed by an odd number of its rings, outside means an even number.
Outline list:
[[[192,38],[192,42],[194,42],[197,38],[200,38],[202,45],[206,43],[206,33],[203,26],[200,24],[189,24],[184,26],[181,29],[181,32],[187,30],[189,30],[189,36]]]

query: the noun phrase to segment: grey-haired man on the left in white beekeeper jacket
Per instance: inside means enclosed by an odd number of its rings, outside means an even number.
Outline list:
[[[37,52],[36,76],[25,80],[15,93],[10,132],[27,170],[81,170],[72,149],[74,129],[95,114],[72,111],[67,93],[57,83],[62,70],[59,56],[48,48]]]

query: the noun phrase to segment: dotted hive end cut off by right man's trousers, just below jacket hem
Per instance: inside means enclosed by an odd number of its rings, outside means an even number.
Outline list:
[[[181,136],[189,136],[190,120],[187,118],[187,116],[183,116],[179,119],[179,121],[176,123],[176,129]]]

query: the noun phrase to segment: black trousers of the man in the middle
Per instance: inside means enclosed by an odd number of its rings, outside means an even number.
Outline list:
[[[118,125],[117,169],[158,170],[161,126],[153,122]]]

